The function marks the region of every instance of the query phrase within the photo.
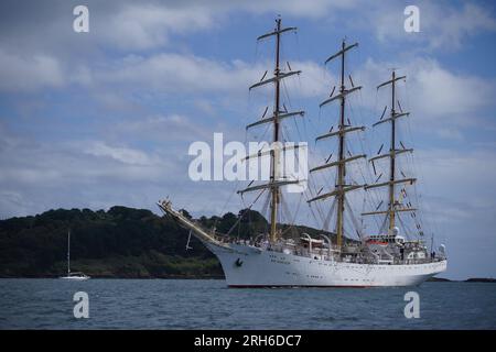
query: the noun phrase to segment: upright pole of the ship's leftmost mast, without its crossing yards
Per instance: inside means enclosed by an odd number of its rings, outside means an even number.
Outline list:
[[[274,105],[273,105],[273,144],[279,142],[279,110],[280,110],[280,80],[279,80],[279,53],[280,53],[280,40],[281,40],[281,19],[276,20],[276,68],[273,70],[276,79],[276,92],[274,92]],[[279,167],[279,151],[277,147],[273,148],[272,153],[272,175],[271,180],[277,182]],[[272,204],[270,212],[270,241],[273,243],[277,240],[277,215],[279,206],[279,187],[272,187]]]

